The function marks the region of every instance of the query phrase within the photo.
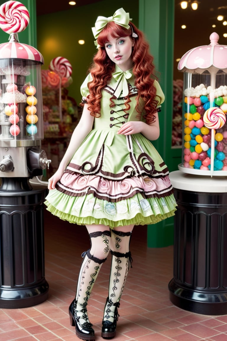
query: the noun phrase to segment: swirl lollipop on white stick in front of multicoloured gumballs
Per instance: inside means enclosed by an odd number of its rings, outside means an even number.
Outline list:
[[[211,177],[214,170],[214,130],[220,129],[226,122],[225,113],[222,109],[218,107],[212,107],[207,109],[204,113],[204,125],[205,127],[211,129],[211,156],[210,156],[210,170],[211,170]]]

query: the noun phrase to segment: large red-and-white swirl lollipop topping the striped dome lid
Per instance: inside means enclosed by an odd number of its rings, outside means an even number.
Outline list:
[[[27,8],[18,1],[7,1],[0,6],[0,28],[6,33],[25,30],[29,20]]]

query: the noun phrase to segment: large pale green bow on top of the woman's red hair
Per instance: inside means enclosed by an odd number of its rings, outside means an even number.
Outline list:
[[[129,29],[129,13],[126,13],[123,8],[117,10],[112,17],[102,17],[99,16],[95,22],[95,27],[92,27],[92,32],[94,34],[95,39],[98,38],[99,33],[106,27],[107,23],[114,21],[117,25],[123,26],[126,29]]]

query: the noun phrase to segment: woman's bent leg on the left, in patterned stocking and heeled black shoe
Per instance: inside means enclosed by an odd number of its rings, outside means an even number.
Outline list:
[[[89,231],[89,230],[88,230]],[[70,324],[76,327],[76,335],[83,340],[93,340],[94,330],[87,316],[87,301],[102,263],[109,253],[110,231],[90,234],[91,248],[82,254],[75,300],[69,306]]]

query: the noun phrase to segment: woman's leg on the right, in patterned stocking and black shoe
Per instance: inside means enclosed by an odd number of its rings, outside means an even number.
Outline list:
[[[116,334],[116,323],[118,320],[117,308],[123,292],[129,266],[131,265],[131,253],[129,243],[131,232],[111,231],[111,254],[112,263],[110,271],[109,296],[104,308],[102,321],[102,337],[112,338]]]

